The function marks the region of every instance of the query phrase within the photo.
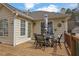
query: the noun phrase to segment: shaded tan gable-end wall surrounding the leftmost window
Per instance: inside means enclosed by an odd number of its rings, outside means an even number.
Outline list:
[[[0,36],[0,42],[13,44],[13,14],[10,10],[2,6],[0,8],[0,20],[7,19],[8,20],[8,36]]]

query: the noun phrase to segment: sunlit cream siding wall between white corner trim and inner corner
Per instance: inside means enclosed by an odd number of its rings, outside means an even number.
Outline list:
[[[20,35],[21,20],[26,20],[25,35],[23,36]],[[31,39],[31,37],[28,37],[28,22],[29,21],[27,19],[21,17],[17,17],[16,19],[14,19],[14,46]]]

